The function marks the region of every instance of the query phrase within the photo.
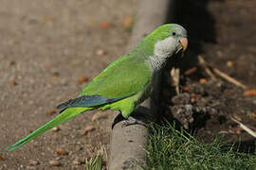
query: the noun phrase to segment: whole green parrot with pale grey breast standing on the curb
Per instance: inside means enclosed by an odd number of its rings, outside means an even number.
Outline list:
[[[10,145],[12,151],[35,139],[46,130],[87,110],[119,110],[133,123],[130,114],[154,91],[156,76],[168,59],[184,52],[188,46],[187,31],[182,26],[159,26],[137,44],[129,53],[107,66],[99,76],[82,88],[79,97],[59,105],[60,113],[24,139]],[[129,119],[131,117],[131,119]]]

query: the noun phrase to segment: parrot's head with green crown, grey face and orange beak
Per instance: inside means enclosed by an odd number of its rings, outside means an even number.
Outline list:
[[[159,58],[169,58],[188,47],[186,29],[176,24],[159,26],[152,36],[156,39],[154,54]]]

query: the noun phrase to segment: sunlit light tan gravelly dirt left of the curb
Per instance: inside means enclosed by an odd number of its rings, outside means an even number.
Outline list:
[[[131,32],[126,25],[136,14],[137,3],[1,2],[1,170],[82,169],[95,150],[108,148],[110,112],[93,122],[93,112],[87,112],[9,154],[4,150],[54,117],[58,104],[77,96],[86,79],[125,52]],[[59,167],[49,162],[55,160]]]

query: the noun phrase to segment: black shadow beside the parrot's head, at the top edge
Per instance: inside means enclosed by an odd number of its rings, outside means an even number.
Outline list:
[[[182,68],[184,69],[181,70],[186,70],[185,68],[190,68],[197,63],[197,56],[204,51],[202,47],[203,43],[216,42],[216,22],[207,8],[209,3],[210,0],[176,1],[174,21],[170,22],[184,26],[188,30],[190,41],[187,54],[189,58],[184,59],[182,65]]]

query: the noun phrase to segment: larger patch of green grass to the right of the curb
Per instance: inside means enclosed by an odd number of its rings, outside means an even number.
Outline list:
[[[224,149],[219,139],[199,143],[185,131],[173,126],[153,125],[147,146],[147,161],[152,170],[168,169],[256,169],[256,155]]]

